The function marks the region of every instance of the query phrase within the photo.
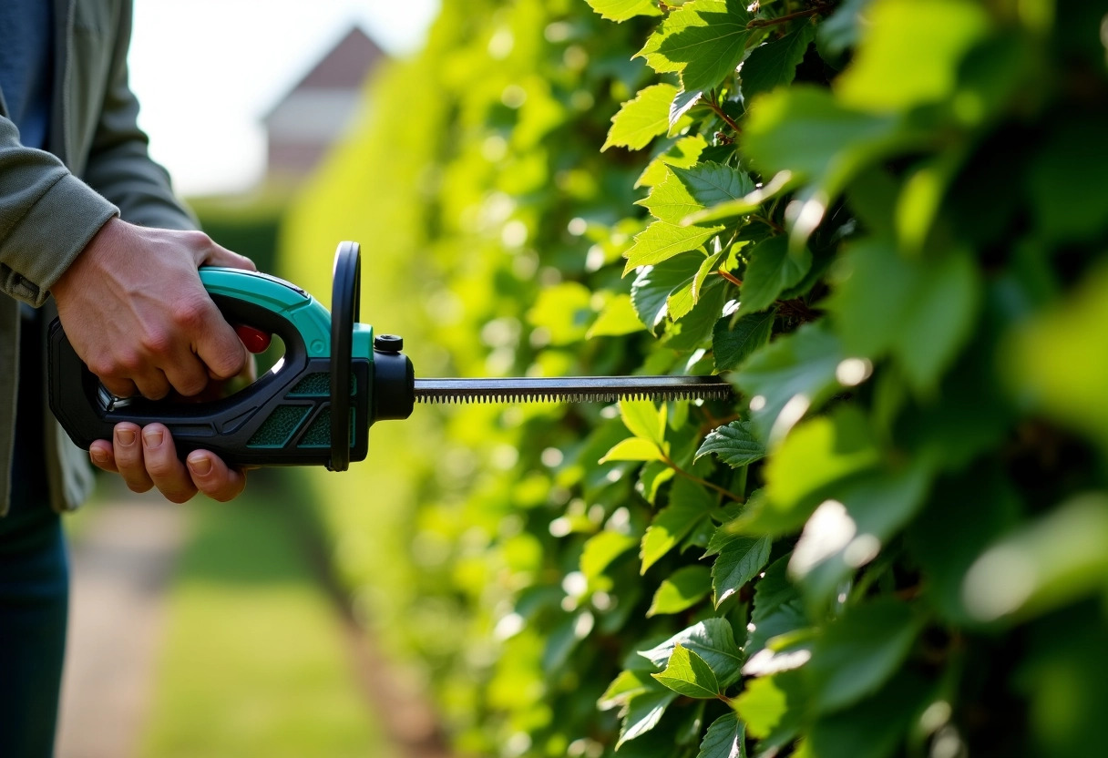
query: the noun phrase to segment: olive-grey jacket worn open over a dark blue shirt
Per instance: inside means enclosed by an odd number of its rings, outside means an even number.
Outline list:
[[[48,308],[50,288],[113,216],[196,228],[136,124],[126,64],[131,0],[53,1],[59,28],[49,152],[20,144],[0,93],[0,293]],[[0,297],[0,515],[8,509],[14,443],[14,306]],[[52,505],[71,510],[91,489],[88,453],[69,441],[49,410],[43,418]]]

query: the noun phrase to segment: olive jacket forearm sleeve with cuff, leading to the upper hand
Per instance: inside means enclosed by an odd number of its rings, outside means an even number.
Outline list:
[[[0,291],[42,305],[49,289],[119,209],[57,157],[19,142],[0,116]]]

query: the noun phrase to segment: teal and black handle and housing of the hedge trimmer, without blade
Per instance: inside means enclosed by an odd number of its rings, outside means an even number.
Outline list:
[[[48,336],[50,407],[66,433],[88,450],[94,440],[110,440],[121,421],[138,426],[158,421],[168,427],[181,458],[204,449],[233,465],[330,463],[332,361],[326,308],[295,285],[265,274],[212,268],[202,269],[201,276],[229,322],[281,339],[285,356],[279,368],[222,400],[117,400],[81,361],[55,319]],[[348,460],[361,460],[368,447],[369,363],[351,366],[349,358],[345,362],[346,386],[357,390]],[[349,407],[351,398],[346,400]],[[348,424],[336,426],[350,433]]]

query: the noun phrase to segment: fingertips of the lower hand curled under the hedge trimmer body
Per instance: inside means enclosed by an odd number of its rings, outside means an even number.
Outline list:
[[[185,502],[197,490],[226,502],[242,494],[246,486],[245,472],[232,469],[206,450],[194,450],[188,453],[187,465],[182,463],[170,430],[161,423],[144,428],[117,423],[112,441],[96,440],[89,454],[99,468],[123,477],[133,492],[156,486],[174,503]]]

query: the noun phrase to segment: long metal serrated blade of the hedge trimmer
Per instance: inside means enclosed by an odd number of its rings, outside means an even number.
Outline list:
[[[417,402],[615,402],[617,400],[726,400],[719,377],[551,377],[417,379]]]

